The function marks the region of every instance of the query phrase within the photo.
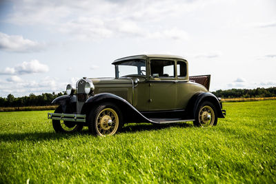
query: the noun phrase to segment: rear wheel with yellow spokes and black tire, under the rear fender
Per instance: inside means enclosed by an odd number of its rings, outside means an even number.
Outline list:
[[[198,127],[211,127],[217,125],[217,109],[210,101],[202,102],[195,112],[195,121]]]

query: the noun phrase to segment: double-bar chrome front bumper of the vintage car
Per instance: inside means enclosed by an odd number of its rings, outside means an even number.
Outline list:
[[[86,122],[86,114],[63,114],[63,113],[50,113],[48,112],[48,119]]]

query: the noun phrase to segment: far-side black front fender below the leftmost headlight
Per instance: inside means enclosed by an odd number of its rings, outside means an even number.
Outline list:
[[[77,97],[75,95],[70,96],[70,95],[63,95],[63,96],[59,96],[56,99],[54,99],[52,101],[52,104],[59,104],[61,105],[62,111],[66,112],[68,110],[66,110],[66,108],[68,108],[68,106],[75,108],[77,103]],[[75,110],[70,110],[75,112]]]

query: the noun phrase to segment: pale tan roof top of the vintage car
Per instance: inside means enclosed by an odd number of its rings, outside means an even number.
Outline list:
[[[115,65],[116,63],[119,63],[121,61],[126,61],[130,59],[148,59],[148,58],[161,58],[161,59],[184,59],[183,57],[174,56],[174,55],[167,55],[167,54],[141,54],[141,55],[135,55],[130,57],[123,57],[120,59],[116,59],[112,64]]]

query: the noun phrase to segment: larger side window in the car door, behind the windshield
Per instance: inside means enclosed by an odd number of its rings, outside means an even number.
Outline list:
[[[152,59],[150,71],[153,77],[175,77],[175,61]]]

